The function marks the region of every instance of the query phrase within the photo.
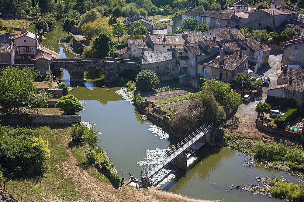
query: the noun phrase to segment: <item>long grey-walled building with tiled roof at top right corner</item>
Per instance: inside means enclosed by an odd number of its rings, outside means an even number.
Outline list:
[[[264,29],[266,26],[271,27],[274,31],[282,32],[282,26],[287,24],[287,21],[298,18],[298,11],[289,7],[283,6],[276,9],[259,9],[248,14],[247,28]]]

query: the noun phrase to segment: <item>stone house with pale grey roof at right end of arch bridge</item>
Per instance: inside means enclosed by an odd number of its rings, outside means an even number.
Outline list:
[[[143,52],[141,69],[154,71],[161,81],[178,77],[178,65],[172,52]]]

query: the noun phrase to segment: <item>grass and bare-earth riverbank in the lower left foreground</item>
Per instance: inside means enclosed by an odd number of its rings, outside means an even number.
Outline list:
[[[49,171],[37,179],[19,179],[6,182],[6,190],[14,189],[21,201],[197,201],[207,202],[181,194],[149,189],[135,192],[134,187],[115,189],[110,181],[95,168],[82,169],[79,165],[82,152],[69,147],[71,130],[68,125],[37,127],[49,141],[51,157]]]

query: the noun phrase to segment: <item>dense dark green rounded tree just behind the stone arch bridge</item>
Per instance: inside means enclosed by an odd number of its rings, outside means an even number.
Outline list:
[[[93,53],[95,57],[104,58],[115,52],[115,44],[110,33],[101,33],[93,41]]]

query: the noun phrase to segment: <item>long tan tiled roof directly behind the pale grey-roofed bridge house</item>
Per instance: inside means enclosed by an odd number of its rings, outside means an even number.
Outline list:
[[[154,45],[184,45],[185,39],[182,35],[167,35],[164,40],[163,34],[149,34]]]

